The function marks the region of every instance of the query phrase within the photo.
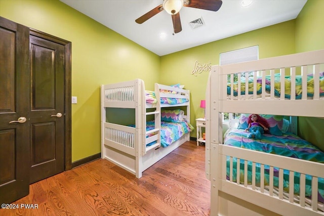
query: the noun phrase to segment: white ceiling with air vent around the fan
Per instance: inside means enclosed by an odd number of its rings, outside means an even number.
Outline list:
[[[182,31],[173,33],[171,15],[161,11],[143,24],[135,20],[163,4],[163,0],[60,0],[151,52],[164,56],[215,40],[295,19],[307,0],[223,0],[219,11],[183,7]],[[212,0],[211,0],[212,1]],[[205,25],[192,29],[189,22],[202,17]]]

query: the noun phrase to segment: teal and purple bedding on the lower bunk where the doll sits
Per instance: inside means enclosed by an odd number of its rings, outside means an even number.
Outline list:
[[[261,140],[247,138],[248,133],[242,129],[231,129],[225,134],[224,145],[261,151],[282,156],[294,157],[304,160],[324,163],[324,152],[309,142],[302,140],[294,134],[275,136],[264,134]],[[229,157],[227,157],[227,178],[230,170]],[[233,181],[236,182],[236,158],[233,158]],[[269,185],[269,166],[264,166],[265,185]],[[256,183],[260,185],[260,164],[256,164]],[[278,172],[274,167],[274,186],[278,187]],[[294,191],[299,194],[300,174],[295,172]],[[240,181],[244,180],[244,161],[240,160]],[[252,162],[248,161],[248,182],[252,183]],[[284,190],[289,191],[289,171],[284,170]],[[305,196],[311,195],[311,177],[306,175]],[[318,179],[318,201],[324,202],[324,179]]]

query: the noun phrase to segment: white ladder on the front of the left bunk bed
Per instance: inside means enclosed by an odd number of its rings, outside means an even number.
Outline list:
[[[144,87],[144,82],[142,81],[141,83],[142,86],[142,95],[144,97],[142,98],[142,104],[146,104],[146,99],[145,99],[145,87]],[[155,95],[156,96],[156,95]],[[142,139],[142,155],[145,155],[147,152],[157,149],[161,146],[161,135],[160,135],[160,119],[161,119],[161,114],[160,114],[160,101],[159,98],[156,97],[156,109],[153,112],[147,112],[147,108],[145,106],[141,107],[142,109],[142,134],[143,134],[143,139]],[[149,115],[154,115],[154,129],[151,129],[150,131],[146,131],[146,117]],[[149,143],[152,143],[156,141],[153,145],[146,146]]]

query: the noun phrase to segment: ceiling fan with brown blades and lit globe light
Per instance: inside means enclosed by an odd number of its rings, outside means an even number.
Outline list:
[[[165,10],[171,14],[174,33],[182,30],[179,11],[182,7],[198,8],[208,11],[218,11],[222,6],[221,0],[164,0],[162,5],[157,6],[151,11],[135,20],[138,24],[142,24],[159,12]]]

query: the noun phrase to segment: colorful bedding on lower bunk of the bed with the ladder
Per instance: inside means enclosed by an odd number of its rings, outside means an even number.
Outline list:
[[[146,131],[154,129],[154,121],[146,122]],[[166,122],[161,121],[161,146],[167,147],[179,140],[183,135],[191,132],[193,126],[187,121]],[[153,145],[149,143],[147,145]]]

